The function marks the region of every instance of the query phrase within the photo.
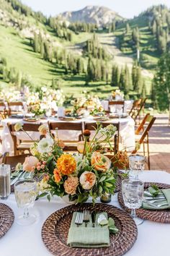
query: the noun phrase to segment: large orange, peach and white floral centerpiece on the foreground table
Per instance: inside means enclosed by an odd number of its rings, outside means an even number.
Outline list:
[[[43,177],[38,183],[39,196],[48,195],[50,200],[53,195],[67,195],[69,200],[82,203],[89,197],[95,202],[104,193],[113,194],[116,174],[102,145],[109,144],[115,130],[112,125],[102,128],[98,123],[91,142],[88,142],[90,132],[85,130],[83,154],[71,155],[63,153],[64,145],[57,131],[55,137],[50,137],[48,127],[40,126],[40,134],[46,137],[30,148],[32,156],[27,157],[23,165],[24,171],[35,171]],[[97,140],[98,135],[100,140]]]

